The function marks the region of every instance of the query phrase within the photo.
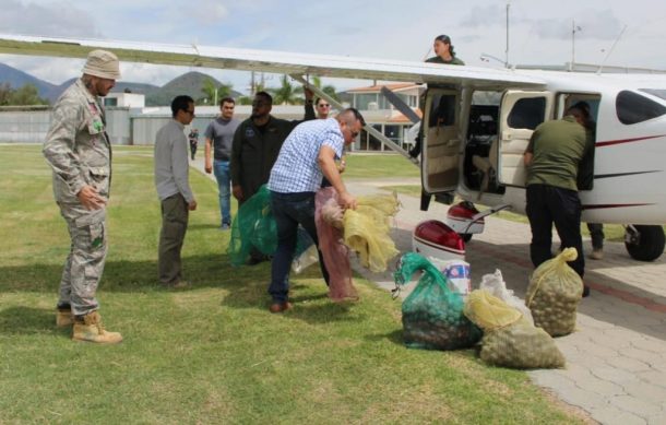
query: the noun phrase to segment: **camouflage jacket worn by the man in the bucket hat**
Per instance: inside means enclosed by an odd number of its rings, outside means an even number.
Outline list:
[[[58,203],[76,204],[86,185],[108,199],[111,180],[111,144],[104,109],[79,79],[53,106],[44,156],[53,169]]]

